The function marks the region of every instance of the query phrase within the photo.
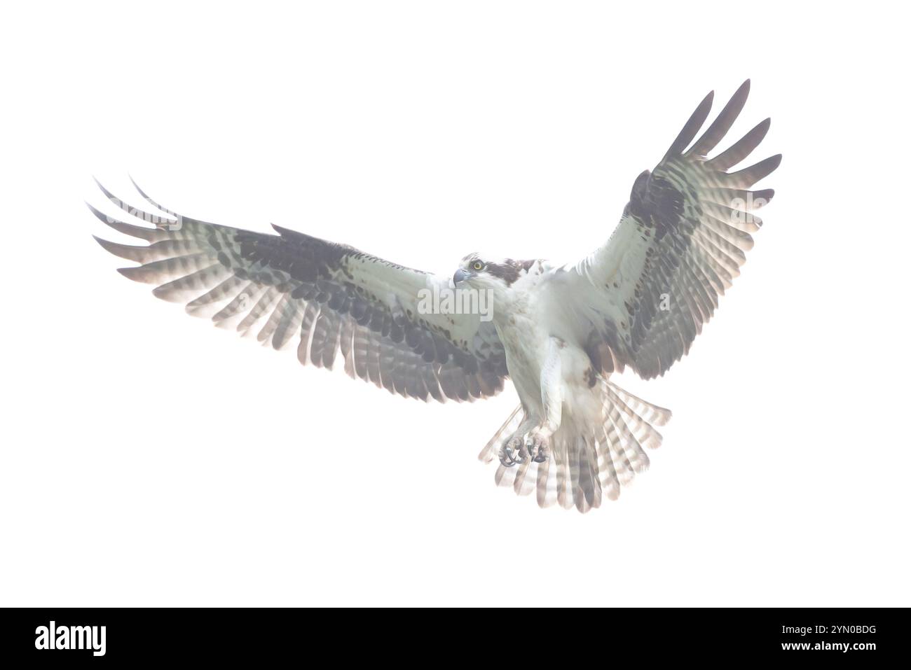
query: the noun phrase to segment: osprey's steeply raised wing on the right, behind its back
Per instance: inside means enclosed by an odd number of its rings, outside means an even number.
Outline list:
[[[663,374],[690,350],[752,248],[762,221],[750,211],[773,190],[747,190],[781,155],[729,172],[759,145],[769,119],[715,157],[746,102],[747,80],[711,126],[690,143],[711,109],[702,100],[653,172],[636,179],[607,244],[567,268],[561,283],[587,330],[589,357],[603,371],[629,365],[641,377]],[[689,148],[687,148],[689,147]]]

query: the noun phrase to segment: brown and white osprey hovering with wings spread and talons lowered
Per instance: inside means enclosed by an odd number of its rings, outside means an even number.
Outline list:
[[[629,367],[644,379],[687,353],[718,307],[761,225],[750,213],[772,189],[748,190],[781,155],[729,171],[759,145],[765,119],[707,157],[740,114],[747,80],[701,136],[712,94],[701,101],[660,163],[642,172],[619,226],[577,263],[470,254],[452,279],[404,268],[341,244],[273,226],[277,234],[180,216],[139,195],[158,214],[119,208],[154,228],[92,211],[148,245],[105,239],[138,262],[120,269],[158,285],[162,299],[231,325],[276,350],[296,348],[304,365],[333,367],[409,398],[473,401],[513,382],[521,404],[481,451],[498,461],[496,482],[537,503],[598,507],[649,466],[670,411],[610,381]],[[135,185],[135,182],[134,182]],[[477,310],[432,310],[428,292],[484,291]],[[423,309],[422,309],[423,308]]]

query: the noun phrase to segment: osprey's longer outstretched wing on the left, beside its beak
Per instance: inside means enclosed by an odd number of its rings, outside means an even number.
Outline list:
[[[305,365],[332,368],[341,352],[350,376],[411,398],[469,401],[503,388],[506,356],[493,323],[419,310],[421,289],[448,287],[448,279],[286,228],[270,235],[179,216],[137,187],[167,216],[151,214],[101,189],[155,228],[89,206],[148,245],[98,243],[140,263],[121,274],[158,285],[156,296],[186,302],[190,314],[255,332],[277,350],[296,343]]]

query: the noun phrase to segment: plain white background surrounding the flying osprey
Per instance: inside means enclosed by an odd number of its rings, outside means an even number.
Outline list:
[[[909,603],[905,21],[763,2],[5,10],[0,604]],[[701,97],[784,154],[741,279],[587,515],[497,489],[517,404],[299,366],[118,276],[91,181],[451,273],[577,259]],[[108,209],[106,208],[106,211]],[[113,210],[110,210],[113,211]],[[134,240],[135,242],[135,240]]]

